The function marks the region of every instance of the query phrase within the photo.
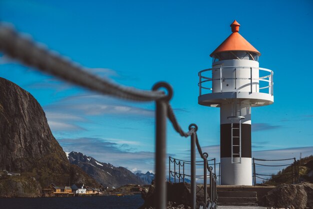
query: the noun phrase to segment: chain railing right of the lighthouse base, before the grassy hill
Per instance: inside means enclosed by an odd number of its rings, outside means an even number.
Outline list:
[[[290,161],[291,163],[283,163],[283,164],[270,164],[274,161]],[[257,161],[263,161],[263,163],[257,163]],[[264,164],[266,163],[266,164]],[[268,164],[269,163],[269,164]],[[288,159],[257,159],[252,158],[252,166],[253,166],[253,185],[256,185],[256,180],[261,179],[263,181],[269,181],[274,180],[276,177],[284,178],[283,182],[289,182],[289,183],[298,183],[299,182],[299,163],[294,158],[288,158]],[[257,167],[286,167],[290,166],[289,170],[286,170],[285,172],[280,172],[278,174],[265,174],[265,173],[257,173]],[[261,169],[260,169],[261,170]]]

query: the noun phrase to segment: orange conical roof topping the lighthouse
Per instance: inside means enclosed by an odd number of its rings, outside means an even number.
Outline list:
[[[214,54],[219,52],[228,52],[228,51],[247,51],[254,52],[258,56],[261,55],[248,41],[246,41],[239,33],[240,24],[237,21],[233,21],[230,25],[231,32],[230,36],[223,41],[215,50],[210,54],[212,57]]]

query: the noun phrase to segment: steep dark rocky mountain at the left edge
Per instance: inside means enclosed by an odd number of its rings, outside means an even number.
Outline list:
[[[7,183],[4,169],[20,173],[23,182],[27,179],[25,176],[34,178],[41,187],[51,182],[98,185],[77,166],[69,164],[36,99],[6,79],[0,78],[0,87],[0,196]]]

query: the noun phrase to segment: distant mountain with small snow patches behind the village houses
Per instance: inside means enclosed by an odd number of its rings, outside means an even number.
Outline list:
[[[80,152],[67,153],[71,164],[77,165],[94,180],[103,186],[119,187],[125,184],[144,184],[144,182],[124,167],[115,167],[112,164],[99,162]]]

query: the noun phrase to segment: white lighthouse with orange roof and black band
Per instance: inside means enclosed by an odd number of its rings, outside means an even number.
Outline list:
[[[261,55],[231,25],[231,34],[211,54],[212,68],[199,76],[198,104],[220,108],[220,182],[252,185],[251,109],[270,105],[273,72],[260,68]]]

